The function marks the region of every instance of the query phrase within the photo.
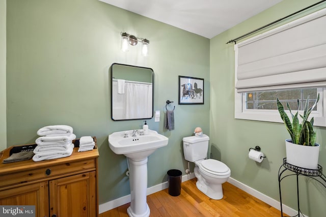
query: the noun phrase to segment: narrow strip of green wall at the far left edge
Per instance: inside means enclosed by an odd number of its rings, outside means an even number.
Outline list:
[[[0,0],[0,150],[7,147],[6,0]]]

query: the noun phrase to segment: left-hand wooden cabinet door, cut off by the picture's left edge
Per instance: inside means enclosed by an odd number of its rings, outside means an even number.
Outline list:
[[[35,205],[37,217],[48,216],[48,182],[38,182],[0,191],[0,205]]]

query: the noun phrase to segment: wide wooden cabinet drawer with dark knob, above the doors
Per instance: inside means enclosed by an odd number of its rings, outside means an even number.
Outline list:
[[[92,168],[95,169],[94,159],[66,162],[47,167],[40,167],[37,169],[26,168],[25,171],[6,174],[0,180],[0,188],[12,184],[18,184],[42,178],[50,178]]]

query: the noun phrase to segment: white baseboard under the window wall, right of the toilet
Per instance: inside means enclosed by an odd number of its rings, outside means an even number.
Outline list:
[[[233,184],[235,187],[241,189],[242,191],[247,192],[248,194],[258,198],[259,200],[261,200],[261,201],[263,201],[265,203],[267,203],[268,205],[273,206],[274,208],[276,208],[278,210],[281,210],[281,205],[280,205],[279,201],[258,192],[257,190],[249,187],[248,185],[243,184],[243,183],[235,180],[234,178],[230,177],[228,182],[230,184]],[[297,215],[297,210],[292,209],[291,207],[286,206],[284,204],[283,204],[283,212],[290,215],[290,216]],[[302,214],[300,216],[301,217],[308,217],[307,215],[302,215]]]

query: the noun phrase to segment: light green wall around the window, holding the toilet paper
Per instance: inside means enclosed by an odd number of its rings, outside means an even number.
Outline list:
[[[276,200],[279,200],[278,170],[285,157],[284,140],[289,135],[282,123],[234,119],[234,46],[226,42],[316,2],[282,1],[210,40],[210,141],[213,158],[222,160],[230,167],[232,178]],[[282,23],[324,7],[325,3]],[[322,144],[319,164],[326,166],[326,148],[323,145],[326,143],[326,129],[317,128],[317,137],[318,143]],[[267,156],[261,164],[248,158],[249,148],[256,145]],[[296,209],[294,188],[294,177],[284,180],[282,200]],[[324,216],[326,189],[321,184],[302,177],[300,194],[304,213],[310,217]]]

